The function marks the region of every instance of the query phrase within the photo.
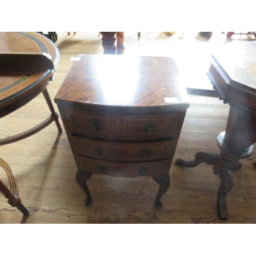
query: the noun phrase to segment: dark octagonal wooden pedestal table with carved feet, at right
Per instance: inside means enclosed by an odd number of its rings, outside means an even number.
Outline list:
[[[217,143],[220,153],[199,152],[194,161],[177,159],[176,164],[195,167],[205,162],[214,165],[221,184],[217,195],[220,220],[228,219],[226,197],[233,187],[231,170],[241,167],[239,159],[253,153],[256,142],[256,42],[230,42],[210,58],[208,76],[223,103],[230,105],[226,131]]]

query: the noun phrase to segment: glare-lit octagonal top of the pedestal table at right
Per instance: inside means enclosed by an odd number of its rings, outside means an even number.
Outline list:
[[[220,99],[256,113],[256,42],[230,42],[210,57],[208,77]]]

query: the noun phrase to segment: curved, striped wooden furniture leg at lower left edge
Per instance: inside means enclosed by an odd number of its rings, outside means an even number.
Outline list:
[[[22,200],[19,197],[18,193],[18,184],[16,182],[16,179],[14,177],[14,174],[12,170],[10,169],[9,165],[0,158],[0,165],[5,170],[9,182],[10,182],[10,189],[4,184],[2,180],[0,180],[0,192],[4,195],[5,198],[8,199],[8,203],[12,207],[16,207],[18,210],[20,210],[24,216],[29,215],[29,211],[27,208],[22,204]]]

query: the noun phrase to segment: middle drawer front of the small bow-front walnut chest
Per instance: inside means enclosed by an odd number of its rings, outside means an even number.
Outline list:
[[[76,153],[112,161],[167,159],[172,155],[172,141],[154,143],[113,143],[72,137]]]

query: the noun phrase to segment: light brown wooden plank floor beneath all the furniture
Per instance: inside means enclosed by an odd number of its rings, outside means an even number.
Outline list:
[[[57,32],[60,62],[49,94],[54,99],[77,54],[102,54],[98,32]],[[198,32],[125,32],[125,54],[175,56],[181,65],[181,82],[187,87],[211,89],[205,73],[207,56],[231,40],[253,40],[246,35],[214,32],[203,38]],[[215,96],[214,92],[210,95]],[[218,97],[190,94],[190,108],[182,128],[177,158],[193,160],[200,151],[218,153],[217,136],[225,130],[229,106]],[[57,106],[54,103],[57,111]],[[0,137],[23,132],[49,116],[42,95],[0,120]],[[61,122],[62,125],[62,122]],[[63,125],[62,125],[63,127]],[[0,223],[225,223],[217,217],[216,197],[220,184],[212,167],[170,168],[170,187],[162,197],[163,208],[154,207],[158,185],[152,178],[114,178],[94,175],[88,181],[93,203],[85,206],[85,195],[75,181],[77,171],[65,131],[58,134],[54,123],[41,132],[1,146],[0,157],[13,170],[22,202],[29,218],[0,197]],[[256,223],[256,153],[242,160],[243,167],[233,172],[234,186],[227,197],[229,220],[226,223]],[[8,183],[1,170],[0,178]]]

